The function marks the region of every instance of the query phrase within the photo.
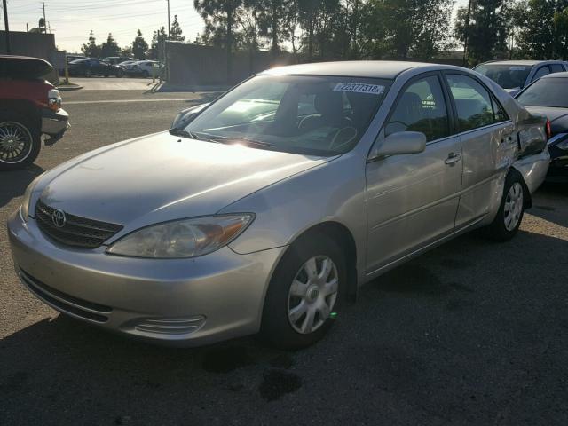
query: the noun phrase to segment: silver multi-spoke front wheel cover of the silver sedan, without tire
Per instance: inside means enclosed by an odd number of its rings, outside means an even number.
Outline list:
[[[302,265],[288,292],[288,321],[297,333],[313,333],[326,322],[338,289],[339,275],[331,258],[315,256]]]

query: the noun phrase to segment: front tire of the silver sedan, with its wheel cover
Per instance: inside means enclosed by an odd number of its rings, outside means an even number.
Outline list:
[[[322,278],[325,265],[328,274]],[[317,273],[310,280],[306,271],[314,271],[314,266]],[[318,342],[335,322],[346,279],[345,256],[334,240],[325,234],[315,234],[296,241],[272,276],[264,299],[260,337],[284,350],[297,350]],[[292,296],[293,291],[302,296]],[[312,330],[306,326],[310,319]]]

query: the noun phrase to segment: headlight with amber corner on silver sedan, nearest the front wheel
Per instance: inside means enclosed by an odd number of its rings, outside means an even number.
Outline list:
[[[107,253],[130,257],[188,258],[225,247],[250,225],[250,213],[194,217],[139,229],[116,241]]]

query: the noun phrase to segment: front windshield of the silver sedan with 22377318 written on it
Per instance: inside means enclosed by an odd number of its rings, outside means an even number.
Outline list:
[[[389,80],[259,75],[181,130],[183,136],[330,156],[351,150],[383,102]]]

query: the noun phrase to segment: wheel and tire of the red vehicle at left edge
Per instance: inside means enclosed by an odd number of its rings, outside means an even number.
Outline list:
[[[0,111],[0,170],[23,169],[36,161],[41,133],[26,116]]]

